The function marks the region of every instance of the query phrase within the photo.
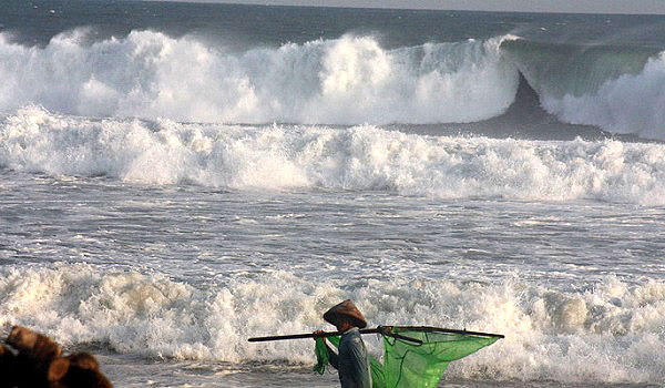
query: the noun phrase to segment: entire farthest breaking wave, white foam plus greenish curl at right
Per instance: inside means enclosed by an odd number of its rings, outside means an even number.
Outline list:
[[[501,115],[519,73],[560,121],[665,139],[665,54],[642,47],[487,41],[385,49],[344,35],[245,52],[133,31],[45,47],[0,33],[0,111],[37,104],[84,116],[185,122],[468,123]]]

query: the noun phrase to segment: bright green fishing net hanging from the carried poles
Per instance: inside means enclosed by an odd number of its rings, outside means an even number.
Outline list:
[[[422,345],[383,336],[383,363],[370,356],[372,388],[436,388],[443,378],[448,364],[499,339],[398,327],[393,327],[392,333],[419,339]],[[328,340],[336,347],[339,345],[339,337],[328,337]],[[316,340],[315,353],[315,370],[323,374],[328,365],[328,351],[320,338]]]

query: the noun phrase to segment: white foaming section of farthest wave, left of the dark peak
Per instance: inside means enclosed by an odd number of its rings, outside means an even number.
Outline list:
[[[514,99],[501,38],[387,50],[371,37],[231,53],[193,38],[85,30],[27,48],[0,33],[0,111],[233,123],[471,122]]]

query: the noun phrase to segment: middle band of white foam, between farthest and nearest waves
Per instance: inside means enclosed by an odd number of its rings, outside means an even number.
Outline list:
[[[236,190],[665,203],[663,144],[434,137],[371,125],[96,121],[29,108],[0,122],[0,166]]]

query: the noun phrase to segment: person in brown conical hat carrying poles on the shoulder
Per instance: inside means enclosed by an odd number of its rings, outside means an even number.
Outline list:
[[[371,388],[367,348],[360,336],[360,329],[367,327],[367,321],[358,307],[350,299],[344,300],[327,310],[324,319],[341,333],[338,353],[330,349],[324,338],[330,365],[339,374],[341,388]]]

